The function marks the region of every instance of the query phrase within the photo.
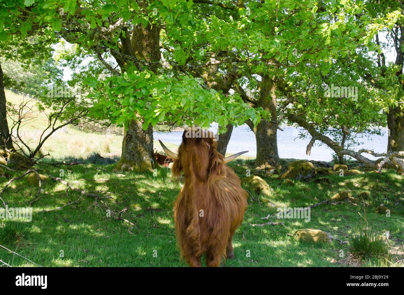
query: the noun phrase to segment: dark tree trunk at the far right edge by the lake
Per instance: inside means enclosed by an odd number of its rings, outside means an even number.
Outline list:
[[[389,128],[387,152],[404,151],[404,110],[400,106],[389,108],[387,114],[387,127]]]

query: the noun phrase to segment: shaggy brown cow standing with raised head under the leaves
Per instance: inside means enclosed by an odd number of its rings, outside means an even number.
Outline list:
[[[206,254],[207,266],[219,266],[222,258],[234,258],[232,239],[247,208],[247,192],[240,179],[226,163],[246,152],[223,157],[217,152],[215,135],[199,135],[185,129],[178,154],[173,158],[173,177],[185,177],[175,201],[174,219],[181,257],[189,266],[201,266]],[[198,131],[202,129],[194,129]],[[203,134],[201,136],[201,134]]]

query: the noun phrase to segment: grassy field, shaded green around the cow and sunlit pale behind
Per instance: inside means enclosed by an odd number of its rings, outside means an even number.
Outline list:
[[[6,93],[7,98],[11,93]],[[41,117],[38,117],[40,121]],[[44,122],[42,122],[44,123]],[[46,123],[46,121],[45,121]],[[27,126],[29,132],[42,125]],[[48,162],[38,165],[40,173],[59,177],[63,169],[65,181],[86,191],[103,191],[101,197],[82,197],[81,202],[53,212],[40,212],[64,206],[78,200],[80,193],[69,190],[60,182],[48,180],[42,184],[40,199],[33,204],[31,222],[0,221],[0,245],[7,247],[41,266],[186,266],[179,260],[175,240],[173,203],[180,183],[170,180],[167,168],[156,173],[112,172],[114,159],[120,155],[122,137],[87,134],[74,128],[55,134],[44,147],[54,160],[82,158],[93,152],[110,159],[76,166],[53,166]],[[81,143],[80,148],[77,147]],[[105,145],[109,149],[103,149]],[[88,145],[88,149],[82,148]],[[172,148],[172,146],[170,147]],[[253,160],[236,160],[230,165],[240,178],[246,168],[254,167]],[[102,168],[104,170],[99,170]],[[0,178],[4,187],[12,176],[24,171],[9,172]],[[381,175],[372,172],[355,176],[330,175],[308,181],[282,184],[279,176],[260,175],[274,189],[267,195],[250,191],[249,207],[244,222],[234,236],[236,258],[225,266],[402,266],[404,256],[404,191],[403,176],[393,170]],[[317,179],[317,180],[316,180]],[[327,180],[328,179],[328,180]],[[1,197],[9,207],[27,207],[37,192],[26,177],[14,181]],[[322,204],[311,209],[311,219],[282,219],[285,226],[250,226],[279,221],[274,217],[278,207],[306,207],[330,198],[339,191],[349,191],[354,197],[368,191],[368,201]],[[391,209],[391,216],[375,213],[383,203]],[[1,204],[1,203],[0,203]],[[2,205],[1,205],[2,206]],[[122,213],[132,222],[108,216],[107,208]],[[379,235],[390,233],[389,257],[358,261],[351,257],[349,244],[312,244],[297,241],[293,234],[298,229],[311,228],[329,232],[333,237],[348,241],[355,229],[363,226],[364,218]],[[361,223],[362,220],[362,223]],[[243,238],[244,234],[244,238]],[[343,251],[341,251],[343,250]],[[32,266],[9,251],[0,248],[0,260],[12,266]]]

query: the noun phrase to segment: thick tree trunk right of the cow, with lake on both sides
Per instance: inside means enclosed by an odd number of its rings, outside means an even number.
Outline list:
[[[280,168],[278,155],[278,142],[276,132],[278,125],[274,122],[277,120],[276,113],[276,83],[269,77],[263,76],[260,85],[260,96],[257,107],[262,107],[271,113],[271,121],[261,120],[256,128],[249,122],[251,130],[255,133],[255,141],[257,142],[257,160],[255,166],[260,168]]]

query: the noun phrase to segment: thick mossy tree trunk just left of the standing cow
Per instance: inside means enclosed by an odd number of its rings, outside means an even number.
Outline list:
[[[127,42],[126,38],[128,38],[127,35],[121,37],[122,52],[130,53],[148,62],[160,60],[160,27],[157,24],[134,27],[130,42]],[[118,64],[123,73],[126,64],[122,62]],[[149,125],[146,131],[143,130],[142,121],[139,118],[126,124],[121,159],[114,170],[151,170],[156,166],[153,156],[153,127]]]

